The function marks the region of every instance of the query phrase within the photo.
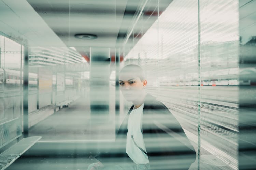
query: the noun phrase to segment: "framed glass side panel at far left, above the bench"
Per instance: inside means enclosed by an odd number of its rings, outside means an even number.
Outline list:
[[[22,135],[23,46],[0,35],[0,148]]]

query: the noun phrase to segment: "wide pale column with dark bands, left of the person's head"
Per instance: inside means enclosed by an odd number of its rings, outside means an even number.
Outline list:
[[[102,139],[102,128],[109,117],[110,48],[90,48],[91,132]]]

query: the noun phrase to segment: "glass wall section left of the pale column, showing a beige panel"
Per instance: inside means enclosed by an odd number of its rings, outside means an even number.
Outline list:
[[[54,46],[29,48],[29,127],[31,127],[29,134],[31,136],[43,136],[41,141],[74,140],[81,137],[76,133],[79,127],[72,128],[72,125],[70,132],[62,135],[66,124],[60,121],[56,125],[56,122],[64,119],[65,116],[53,114],[85,95],[82,92],[85,88],[82,87],[82,82],[84,71],[89,70],[88,65],[73,48]]]

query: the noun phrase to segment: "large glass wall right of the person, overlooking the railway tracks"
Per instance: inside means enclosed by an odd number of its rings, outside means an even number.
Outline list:
[[[239,2],[174,0],[164,11],[154,2],[127,38],[123,65],[144,69],[147,92],[181,124],[197,152],[190,169],[238,169]],[[156,21],[143,32],[148,18]]]

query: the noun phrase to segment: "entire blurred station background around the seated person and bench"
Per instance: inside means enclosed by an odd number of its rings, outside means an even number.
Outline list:
[[[0,152],[7,169],[87,169],[131,102],[127,64],[197,152],[190,169],[256,167],[256,0],[1,0]]]

